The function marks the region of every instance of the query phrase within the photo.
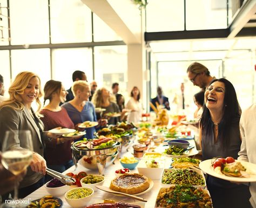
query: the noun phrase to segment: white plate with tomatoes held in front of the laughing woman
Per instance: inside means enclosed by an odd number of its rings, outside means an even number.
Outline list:
[[[237,160],[236,160],[237,161]],[[226,176],[224,174],[218,174],[217,172],[214,171],[212,167],[212,159],[203,161],[199,164],[199,168],[206,172],[206,174],[209,174],[211,176],[217,177],[224,179],[226,181],[232,181],[232,182],[256,182],[256,164],[253,163],[248,163],[245,161],[238,161],[240,162],[245,168],[246,172],[252,172],[255,175],[250,175],[248,178],[244,177],[232,177],[232,176]]]

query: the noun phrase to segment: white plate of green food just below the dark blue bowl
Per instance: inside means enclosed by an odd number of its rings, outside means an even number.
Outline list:
[[[159,152],[160,154],[166,156],[166,157],[174,157],[174,158],[180,158],[180,157],[188,157],[198,154],[198,150],[194,147],[188,147],[187,149],[178,148],[176,145],[173,145],[169,147],[168,145],[163,145],[160,147],[157,147],[155,149],[156,152]]]

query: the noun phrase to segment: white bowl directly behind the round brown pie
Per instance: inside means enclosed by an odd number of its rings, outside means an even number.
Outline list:
[[[164,161],[159,161],[159,168],[147,168],[146,161],[141,160],[137,166],[139,174],[142,174],[152,180],[159,180],[164,170]]]

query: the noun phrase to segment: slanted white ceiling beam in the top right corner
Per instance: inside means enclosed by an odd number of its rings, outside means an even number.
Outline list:
[[[228,38],[234,38],[256,13],[256,0],[247,0],[242,4],[232,23],[228,26]]]

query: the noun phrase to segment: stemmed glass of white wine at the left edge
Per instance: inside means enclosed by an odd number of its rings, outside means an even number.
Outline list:
[[[6,131],[2,144],[2,164],[12,174],[19,175],[30,165],[33,145],[30,130]],[[14,187],[14,199],[18,199],[18,185]],[[2,207],[21,207],[19,204],[4,204]]]

